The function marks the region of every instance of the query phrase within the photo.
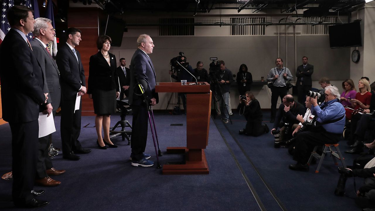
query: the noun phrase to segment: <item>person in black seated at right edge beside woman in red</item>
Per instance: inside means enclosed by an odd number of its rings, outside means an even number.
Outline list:
[[[375,110],[375,82],[371,84],[371,104],[369,109],[365,109],[362,113],[357,113],[353,115],[350,122],[350,142],[353,145],[353,149],[346,151],[347,153],[358,154],[363,152],[362,147],[364,146],[364,139],[367,130],[373,130],[375,126],[374,110]],[[375,143],[370,143],[365,145],[367,148],[375,149]]]

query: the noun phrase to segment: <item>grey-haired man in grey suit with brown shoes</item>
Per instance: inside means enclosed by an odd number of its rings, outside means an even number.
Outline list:
[[[53,41],[55,31],[52,27],[52,21],[48,18],[36,18],[34,24],[34,39],[30,42],[33,53],[39,62],[44,75],[43,92],[49,93],[43,113],[48,116],[52,113],[55,118],[56,110],[60,106],[61,88],[60,88],[60,72],[53,60],[47,44]],[[52,134],[39,138],[38,164],[37,164],[37,180],[36,183],[42,186],[55,186],[60,184],[50,178],[48,175],[60,175],[65,170],[57,170],[53,167],[51,158],[48,156],[49,140]]]

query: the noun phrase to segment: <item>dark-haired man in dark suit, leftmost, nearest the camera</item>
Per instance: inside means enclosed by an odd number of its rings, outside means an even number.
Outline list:
[[[34,208],[48,204],[32,192],[36,175],[39,106],[46,102],[43,72],[26,35],[34,30],[32,10],[15,5],[7,13],[11,29],[0,46],[3,119],[12,131],[13,203]],[[33,194],[34,193],[34,194]]]

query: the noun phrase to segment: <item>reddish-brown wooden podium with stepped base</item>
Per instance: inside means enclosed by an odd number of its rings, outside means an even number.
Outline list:
[[[186,147],[168,147],[167,153],[185,153],[185,164],[165,164],[163,174],[208,174],[204,149],[210,128],[211,90],[206,82],[181,85],[180,82],[161,82],[156,92],[186,93]]]

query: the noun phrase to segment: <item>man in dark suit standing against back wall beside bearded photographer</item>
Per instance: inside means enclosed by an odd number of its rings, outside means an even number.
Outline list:
[[[311,75],[314,72],[314,66],[308,63],[306,56],[302,57],[302,65],[297,67],[297,90],[298,90],[298,102],[305,105],[306,95],[308,91],[311,91]]]

